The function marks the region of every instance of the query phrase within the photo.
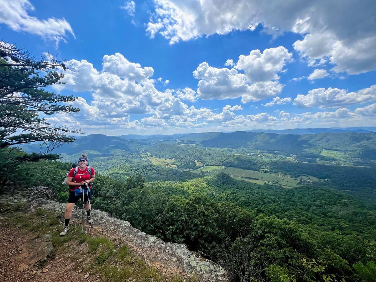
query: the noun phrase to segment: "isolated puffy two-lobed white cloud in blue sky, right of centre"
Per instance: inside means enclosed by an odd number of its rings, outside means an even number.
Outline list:
[[[279,46],[241,55],[233,68],[215,68],[203,62],[193,72],[199,80],[197,93],[203,100],[242,97],[242,103],[276,96],[284,87],[278,82],[277,73],[282,71],[291,56],[287,49]]]

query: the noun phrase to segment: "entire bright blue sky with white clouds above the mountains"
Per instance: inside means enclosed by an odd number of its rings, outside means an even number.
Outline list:
[[[376,126],[375,4],[290,2],[0,0],[0,37],[74,65],[86,134]]]

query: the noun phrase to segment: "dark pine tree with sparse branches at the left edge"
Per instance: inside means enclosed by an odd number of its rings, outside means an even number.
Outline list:
[[[36,59],[29,52],[9,42],[0,41],[0,158],[2,185],[11,169],[20,162],[58,159],[48,154],[63,143],[74,141],[71,133],[79,130],[66,125],[52,125],[45,116],[74,113],[69,103],[76,98],[47,91],[46,87],[62,83],[64,71],[74,71],[64,60],[52,55]],[[39,142],[38,153],[17,151],[21,144]]]

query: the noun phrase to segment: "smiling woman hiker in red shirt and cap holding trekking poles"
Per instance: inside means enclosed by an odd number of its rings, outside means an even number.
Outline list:
[[[64,220],[65,226],[64,229],[60,232],[60,236],[64,236],[67,234],[69,230],[69,221],[72,216],[72,210],[74,205],[77,203],[79,199],[82,201],[82,195],[76,196],[74,189],[80,188],[82,185],[88,186],[88,194],[89,199],[86,193],[84,193],[84,202],[85,202],[85,209],[86,213],[88,214],[88,223],[92,223],[94,220],[90,216],[90,209],[91,205],[88,202],[92,196],[92,186],[91,182],[95,179],[95,171],[92,167],[87,167],[88,163],[88,156],[82,154],[82,156],[78,159],[78,168],[72,168],[67,176],[67,184],[69,185],[69,197],[67,202],[67,208],[65,208]],[[85,186],[84,186],[85,187]],[[86,188],[86,187],[85,187]]]

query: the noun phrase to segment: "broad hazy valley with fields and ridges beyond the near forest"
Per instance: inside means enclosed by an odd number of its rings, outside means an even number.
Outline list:
[[[73,162],[86,152],[97,171],[122,181],[137,172],[147,182],[194,179],[205,176],[214,166],[214,170],[223,168],[238,179],[246,176],[244,180],[249,182],[279,184],[285,188],[302,185],[305,179],[315,177],[314,181],[320,181],[320,185],[359,196],[371,206],[376,203],[370,197],[376,179],[376,132],[308,135],[208,132],[169,136],[172,139],[161,140],[166,138],[163,135],[125,139],[94,134],[64,144],[56,153],[61,153],[61,161]],[[24,147],[32,148],[39,149],[39,145]],[[243,171],[231,172],[236,169]],[[262,175],[257,173],[259,170],[274,175]],[[294,179],[287,181],[284,177]]]

